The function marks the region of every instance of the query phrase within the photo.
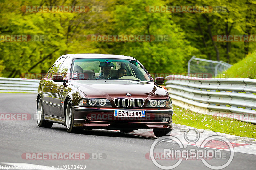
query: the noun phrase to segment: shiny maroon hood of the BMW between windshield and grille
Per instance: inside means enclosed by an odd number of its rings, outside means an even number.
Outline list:
[[[164,88],[154,82],[131,81],[131,80],[72,80],[69,83],[88,98],[107,98],[113,100],[116,97],[167,99]],[[130,93],[132,96],[126,96]]]

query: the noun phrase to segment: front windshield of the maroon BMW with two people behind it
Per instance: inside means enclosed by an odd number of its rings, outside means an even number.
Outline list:
[[[135,60],[102,58],[74,59],[71,78],[151,81],[149,73]]]

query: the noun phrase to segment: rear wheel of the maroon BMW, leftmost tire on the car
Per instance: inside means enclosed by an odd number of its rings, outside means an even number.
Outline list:
[[[36,113],[37,125],[39,127],[51,128],[53,123],[44,120],[44,107],[42,98],[39,98]]]

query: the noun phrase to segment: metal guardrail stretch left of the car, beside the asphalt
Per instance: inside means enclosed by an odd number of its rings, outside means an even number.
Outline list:
[[[0,92],[37,93],[40,80],[0,77]]]

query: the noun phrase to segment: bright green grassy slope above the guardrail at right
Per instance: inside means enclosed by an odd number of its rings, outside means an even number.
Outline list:
[[[243,60],[230,67],[225,72],[225,77],[256,79],[256,52],[247,55]]]

